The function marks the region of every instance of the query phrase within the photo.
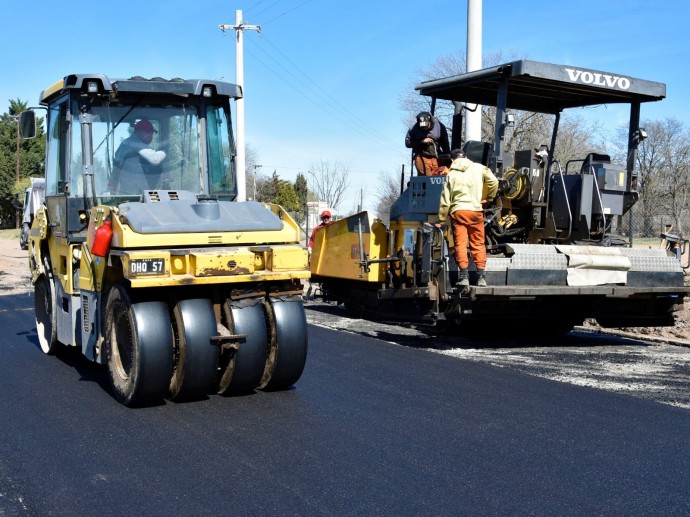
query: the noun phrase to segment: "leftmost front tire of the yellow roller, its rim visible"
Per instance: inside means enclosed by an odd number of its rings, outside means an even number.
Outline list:
[[[118,401],[142,406],[163,400],[173,367],[168,305],[162,301],[132,303],[127,289],[115,284],[106,303],[105,356],[112,393]]]

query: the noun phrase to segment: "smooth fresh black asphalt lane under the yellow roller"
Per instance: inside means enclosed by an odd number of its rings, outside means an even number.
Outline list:
[[[128,409],[0,329],[3,517],[690,513],[688,410],[315,326],[292,390]]]

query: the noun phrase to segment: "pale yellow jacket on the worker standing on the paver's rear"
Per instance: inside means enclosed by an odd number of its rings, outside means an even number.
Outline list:
[[[438,220],[443,223],[458,210],[482,211],[482,200],[492,201],[498,192],[498,180],[491,169],[467,158],[457,158],[450,166],[441,193]]]

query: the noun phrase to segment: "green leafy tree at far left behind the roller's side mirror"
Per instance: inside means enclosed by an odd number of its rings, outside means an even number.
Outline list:
[[[0,117],[0,224],[15,223],[15,194],[22,197],[22,185],[30,176],[43,176],[45,159],[45,134],[42,119],[37,121],[36,138],[19,138],[18,117],[26,111],[27,103],[11,100],[9,112]],[[19,182],[17,182],[17,159],[19,159]]]

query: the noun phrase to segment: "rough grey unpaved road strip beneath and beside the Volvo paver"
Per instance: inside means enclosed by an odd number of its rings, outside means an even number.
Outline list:
[[[590,327],[565,336],[516,338],[487,326],[468,336],[455,328],[352,318],[332,303],[310,300],[307,308],[314,325],[690,409],[687,341]]]

